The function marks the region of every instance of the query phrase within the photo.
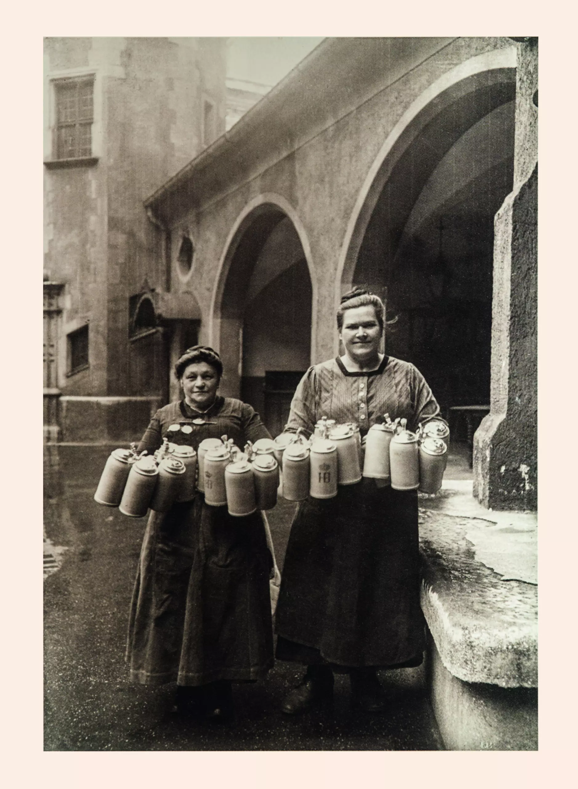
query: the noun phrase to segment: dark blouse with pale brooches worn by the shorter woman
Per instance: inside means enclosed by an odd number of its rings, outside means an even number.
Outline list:
[[[195,451],[203,439],[221,438],[223,435],[233,439],[240,449],[248,441],[255,443],[257,439],[270,438],[259,414],[251,406],[235,398],[219,396],[205,413],[190,408],[184,400],[158,409],[140,440],[138,451],[147,450],[152,454],[157,450],[171,424],[190,424],[192,432],[188,436],[179,432],[177,443],[186,443]]]

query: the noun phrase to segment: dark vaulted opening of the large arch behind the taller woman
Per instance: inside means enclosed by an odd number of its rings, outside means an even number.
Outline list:
[[[494,215],[513,188],[515,90],[515,69],[491,69],[416,114],[376,174],[342,279],[386,296],[398,317],[386,353],[423,372],[466,443],[490,404]]]

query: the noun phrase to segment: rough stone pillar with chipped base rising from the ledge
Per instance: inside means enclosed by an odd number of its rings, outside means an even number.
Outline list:
[[[538,44],[518,39],[513,191],[494,219],[490,413],[474,436],[484,507],[537,507]]]

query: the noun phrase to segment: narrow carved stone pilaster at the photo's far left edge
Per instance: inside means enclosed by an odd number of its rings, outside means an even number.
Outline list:
[[[59,402],[61,391],[58,388],[58,335],[62,313],[60,294],[64,285],[60,282],[44,281],[44,442],[57,443],[60,432]]]

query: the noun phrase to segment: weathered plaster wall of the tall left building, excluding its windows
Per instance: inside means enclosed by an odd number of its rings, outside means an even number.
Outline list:
[[[93,74],[90,161],[54,162],[54,80]],[[66,396],[132,394],[129,369],[150,342],[129,342],[129,297],[170,288],[161,230],[143,201],[200,152],[203,110],[225,125],[225,44],[212,39],[45,39],[45,279],[64,284],[58,386]],[[88,368],[67,376],[66,335],[89,324]],[[162,349],[162,339],[156,339]],[[142,349],[142,350],[141,350]],[[150,357],[149,357],[150,358]],[[147,391],[166,370],[153,358]]]

